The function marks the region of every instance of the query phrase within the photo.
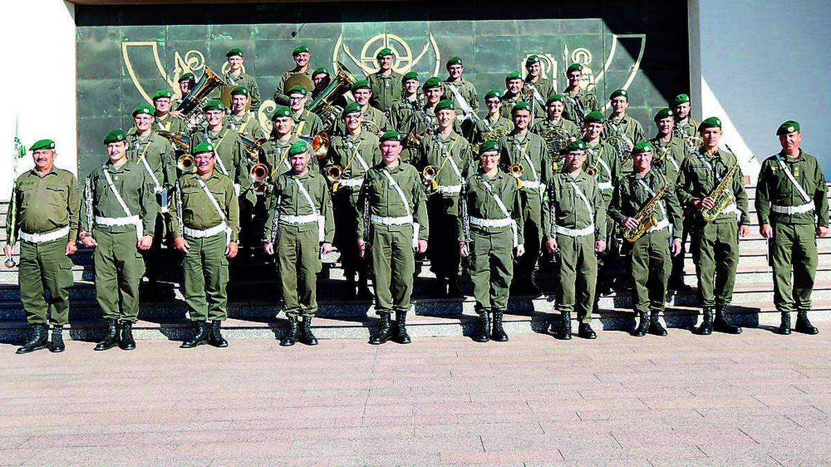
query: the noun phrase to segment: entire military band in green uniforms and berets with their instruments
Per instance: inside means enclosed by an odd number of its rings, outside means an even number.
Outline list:
[[[447,61],[446,78],[423,83],[415,72],[392,71],[390,49],[378,52],[380,70],[368,79],[311,71],[304,46],[293,58],[297,66],[274,91],[268,135],[253,113],[257,81],[233,49],[223,76],[186,73],[182,100],[160,90],[153,106],[136,106],[129,130],[105,136],[106,158],[81,189],[54,166],[52,140],[31,146],[34,168],[15,180],[4,248],[12,261],[20,243],[21,301],[32,326],[18,353],[64,350],[79,241],[94,251],[107,322],[96,351],[135,348],[140,283],[146,277],[149,290],[157,286],[162,243],[182,257],[195,330],[184,348],[228,346],[221,324],[229,261],[238,255],[274,258],[288,317],[281,345],[317,344],[317,273],[334,248],[347,278],[344,299],[374,297],[380,325],[371,344],[411,342],[406,316],[422,255],[435,273],[435,297],[462,297],[459,278],[470,276],[476,342],[507,341],[509,296],[538,296],[540,285],[555,289],[558,337],[572,337],[574,314],[578,336],[595,338],[593,310],[613,285],[612,263],[624,264],[631,282],[632,335],[666,336],[659,317],[667,290],[689,290],[686,248],[703,310],[698,332],[741,332],[728,306],[739,238],[750,234],[745,175],[720,145],[721,121],[696,124],[686,94],[656,112],[648,139],[627,115],[627,91],[613,91],[603,115],[578,64],[568,66],[568,87],[558,92],[531,56],[524,76],[510,73],[504,90],[480,102],[460,57]],[[209,88],[208,78],[221,86]],[[798,122],[775,133],[780,149],[762,164],[755,207],[770,245],[779,332],[791,332],[796,312],[795,331],[815,334],[808,312],[816,238],[829,232],[826,183],[818,161],[800,149]],[[543,263],[553,263],[552,284],[538,283]]]

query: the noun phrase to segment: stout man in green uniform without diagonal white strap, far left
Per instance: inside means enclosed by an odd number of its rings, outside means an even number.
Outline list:
[[[20,239],[17,283],[26,321],[32,325],[32,337],[17,353],[47,346],[50,351],[61,352],[64,351],[63,327],[69,322],[66,290],[72,285],[69,256],[78,249],[80,195],[75,175],[54,165],[57,157],[54,141],[39,140],[29,150],[35,166],[17,177],[12,189],[3,247],[6,258],[12,258],[14,244]],[[47,319],[52,323],[52,342],[48,342]]]

